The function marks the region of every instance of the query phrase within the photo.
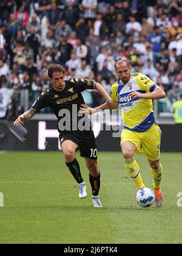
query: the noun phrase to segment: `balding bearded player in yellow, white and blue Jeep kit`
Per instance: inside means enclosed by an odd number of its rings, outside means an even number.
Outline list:
[[[112,108],[122,108],[124,129],[121,135],[121,150],[124,163],[136,186],[145,188],[140,174],[140,167],[135,160],[136,152],[143,153],[149,161],[153,176],[155,204],[161,207],[163,196],[161,178],[163,167],[160,163],[161,130],[155,122],[153,99],[166,98],[166,93],[149,77],[141,73],[131,74],[131,66],[127,60],[119,60],[115,64],[119,79],[112,85]],[[83,105],[83,110],[95,113],[110,108],[103,104],[95,109]]]

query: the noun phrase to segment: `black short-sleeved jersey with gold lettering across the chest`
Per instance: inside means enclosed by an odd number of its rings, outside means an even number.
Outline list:
[[[61,92],[56,91],[53,87],[45,90],[32,105],[33,110],[38,112],[42,108],[50,107],[59,121],[63,118],[63,116],[59,116],[60,110],[69,110],[70,118],[72,119],[72,116],[74,115],[73,105],[76,105],[77,113],[74,118],[79,119],[78,112],[81,104],[85,104],[81,92],[87,89],[94,90],[96,82],[93,80],[77,78],[66,80],[65,82],[66,87]]]

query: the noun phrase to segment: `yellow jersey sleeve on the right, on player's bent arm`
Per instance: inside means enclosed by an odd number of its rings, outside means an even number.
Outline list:
[[[156,88],[158,88],[158,85],[155,84],[155,82],[143,74],[139,74],[137,77],[137,82],[141,90],[146,91],[146,93],[152,93]]]

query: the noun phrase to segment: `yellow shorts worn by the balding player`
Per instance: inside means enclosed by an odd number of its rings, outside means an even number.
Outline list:
[[[161,129],[157,124],[153,124],[146,132],[124,129],[121,134],[121,144],[130,141],[135,144],[136,152],[144,154],[150,161],[157,161],[160,158],[161,134]]]

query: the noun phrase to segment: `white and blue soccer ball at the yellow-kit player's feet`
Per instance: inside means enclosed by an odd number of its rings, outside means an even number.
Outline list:
[[[150,188],[143,188],[136,193],[136,202],[141,207],[150,207],[155,202],[155,193]]]

